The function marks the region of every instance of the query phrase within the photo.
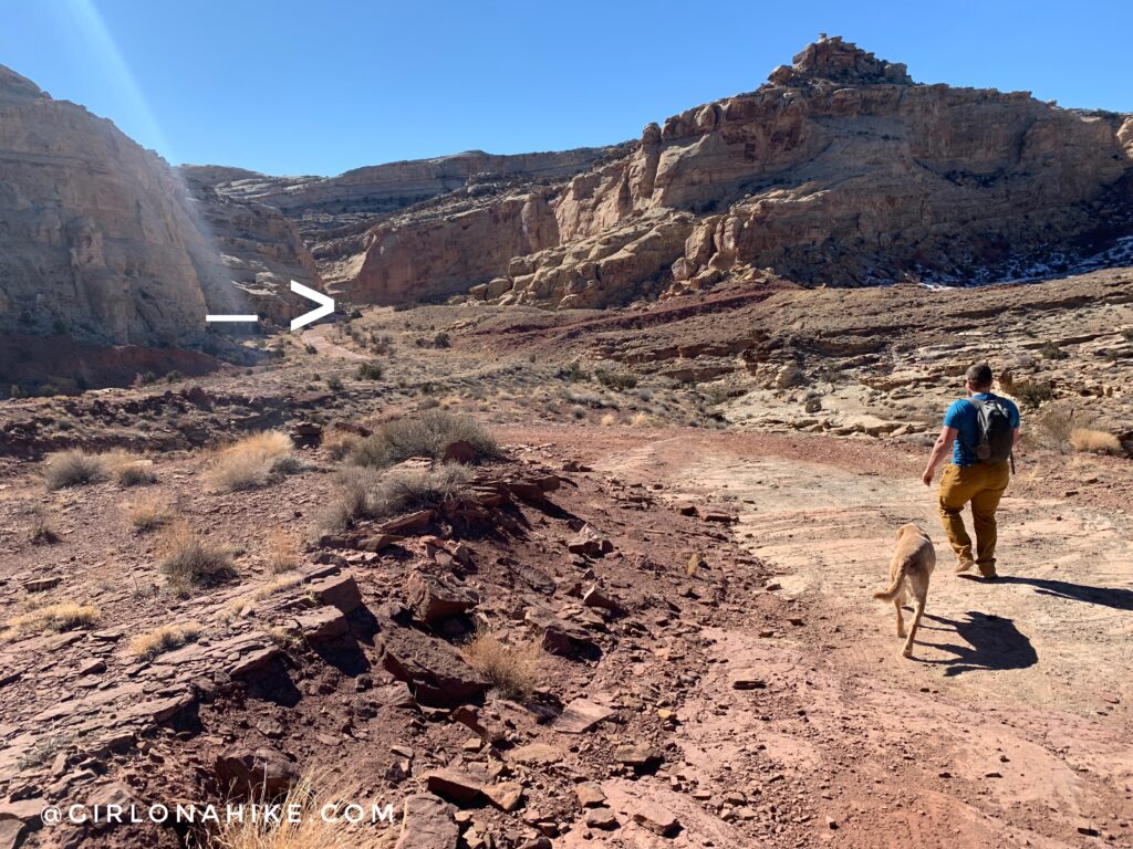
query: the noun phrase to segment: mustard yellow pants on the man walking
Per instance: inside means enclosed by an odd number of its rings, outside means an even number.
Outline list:
[[[1003,491],[1011,479],[1011,463],[995,465],[948,463],[940,475],[940,522],[948,542],[962,561],[976,560],[980,574],[995,575],[996,522],[995,512]],[[976,557],[972,540],[964,529],[961,515],[964,506],[972,505],[972,524],[976,525]]]

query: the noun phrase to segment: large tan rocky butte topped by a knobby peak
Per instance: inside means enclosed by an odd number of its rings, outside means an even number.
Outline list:
[[[917,85],[827,38],[576,177],[552,201],[560,243],[469,297],[600,307],[764,268],[838,286],[1011,274],[1101,223],[1130,135],[1025,93]]]

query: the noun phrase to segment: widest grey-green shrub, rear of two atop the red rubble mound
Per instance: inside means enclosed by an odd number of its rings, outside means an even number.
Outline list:
[[[426,410],[417,415],[382,424],[351,454],[358,465],[385,468],[409,457],[441,460],[444,449],[462,440],[472,446],[476,460],[501,456],[500,446],[478,421],[443,410]]]

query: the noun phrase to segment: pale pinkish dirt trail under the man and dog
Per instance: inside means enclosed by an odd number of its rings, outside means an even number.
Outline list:
[[[738,778],[769,760],[811,800],[803,820],[823,812],[824,843],[1133,846],[1130,515],[1008,490],[1004,577],[987,584],[953,574],[935,489],[905,473],[911,456],[889,477],[767,448],[681,436],[600,464],[727,504],[778,573],[767,592],[783,600],[782,627],[743,627],[750,599],[733,594],[740,625],[706,637],[716,663],[685,702],[687,760]],[[892,606],[870,598],[909,521],[939,557],[911,661]],[[733,688],[743,670],[758,687]]]

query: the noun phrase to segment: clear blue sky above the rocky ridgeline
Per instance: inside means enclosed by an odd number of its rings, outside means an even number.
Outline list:
[[[333,174],[633,138],[819,32],[919,82],[1130,112],[1131,31],[1127,0],[0,0],[0,63],[174,163]]]

